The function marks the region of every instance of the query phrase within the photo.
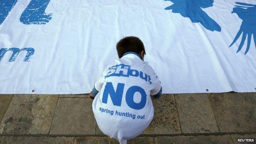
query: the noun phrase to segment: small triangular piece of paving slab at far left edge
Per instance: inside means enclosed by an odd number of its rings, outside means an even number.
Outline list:
[[[0,94],[0,122],[5,115],[13,94]]]

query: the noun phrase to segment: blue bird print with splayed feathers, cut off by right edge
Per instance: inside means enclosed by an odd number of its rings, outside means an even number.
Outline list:
[[[247,47],[245,50],[245,54],[247,54],[250,49],[252,35],[254,37],[254,44],[256,47],[256,5],[251,5],[242,2],[235,3],[238,5],[235,5],[232,14],[236,13],[238,17],[242,19],[242,24],[240,26],[240,30],[235,36],[235,39],[233,40],[229,47],[231,47],[242,34],[242,40],[236,53],[238,53],[242,49],[242,46],[244,45],[247,36]]]

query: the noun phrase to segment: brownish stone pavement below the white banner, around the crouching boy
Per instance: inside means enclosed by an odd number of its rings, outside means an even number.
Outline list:
[[[2,94],[0,144],[119,144],[99,130],[91,103],[88,94]],[[256,140],[256,93],[164,94],[153,105],[150,126],[128,144]]]

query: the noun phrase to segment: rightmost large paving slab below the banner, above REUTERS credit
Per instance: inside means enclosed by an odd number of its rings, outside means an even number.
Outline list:
[[[256,93],[208,94],[220,132],[256,131]]]

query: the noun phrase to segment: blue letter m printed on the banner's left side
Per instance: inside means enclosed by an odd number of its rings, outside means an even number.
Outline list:
[[[4,57],[5,53],[7,51],[12,51],[12,55],[9,59],[9,62],[14,62],[16,57],[18,56],[18,54],[21,52],[21,51],[27,51],[27,55],[25,56],[24,58],[24,62],[29,62],[29,59],[30,57],[34,54],[34,48],[22,48],[22,49],[19,49],[19,48],[1,48],[0,49],[0,62],[2,60],[2,58]]]

